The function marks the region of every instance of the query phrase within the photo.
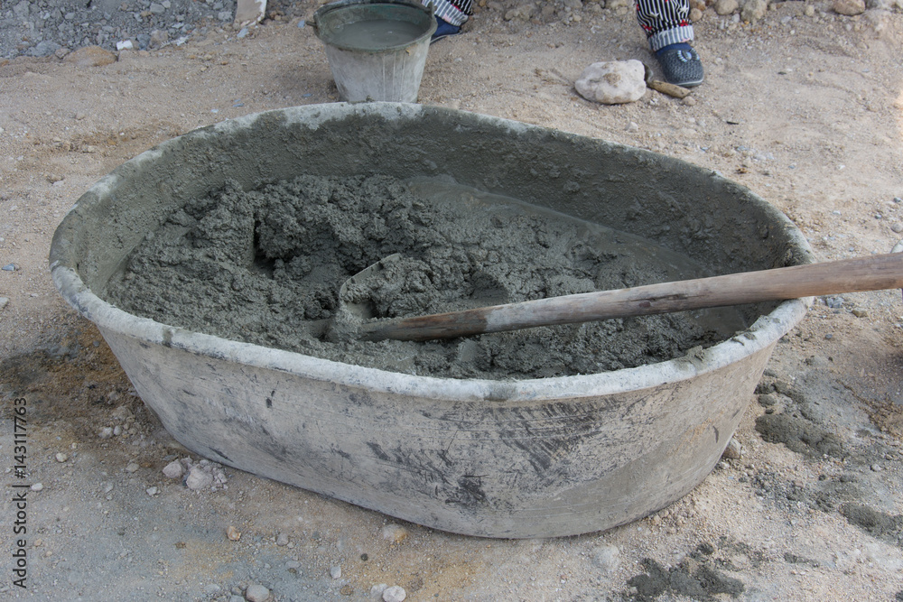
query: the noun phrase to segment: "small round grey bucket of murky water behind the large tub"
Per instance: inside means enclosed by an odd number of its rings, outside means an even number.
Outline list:
[[[367,23],[397,23],[411,35],[392,43],[343,34]],[[326,47],[341,100],[417,102],[436,31],[432,7],[408,0],[340,0],[317,9],[312,25]]]

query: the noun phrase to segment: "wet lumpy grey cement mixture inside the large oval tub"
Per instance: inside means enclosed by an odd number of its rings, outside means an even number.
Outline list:
[[[375,276],[349,277],[397,254]],[[442,342],[358,341],[395,318],[699,275],[636,236],[451,181],[300,176],[191,199],[107,286],[185,329],[358,366],[453,378],[594,374],[665,361],[742,328],[732,312],[605,320]],[[731,318],[735,323],[731,323]]]

